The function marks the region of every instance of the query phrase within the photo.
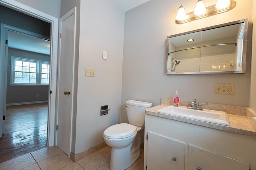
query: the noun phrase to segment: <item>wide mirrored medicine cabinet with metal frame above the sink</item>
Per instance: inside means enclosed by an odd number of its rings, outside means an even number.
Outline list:
[[[248,20],[167,38],[166,74],[245,73]]]

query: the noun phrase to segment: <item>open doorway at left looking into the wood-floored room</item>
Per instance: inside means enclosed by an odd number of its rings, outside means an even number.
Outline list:
[[[31,61],[29,61],[29,62],[25,61],[25,60],[27,60],[26,57],[28,57],[28,55],[24,54],[24,53],[33,53],[36,55],[38,55],[39,53],[35,52],[35,51],[32,52],[29,50],[23,50],[23,49],[18,49],[18,48],[12,47],[12,49],[11,49],[12,53],[16,53],[16,56],[15,55],[8,56],[8,54],[3,55],[2,49],[7,49],[8,52],[10,52],[9,51],[10,49],[8,47],[3,48],[3,43],[2,43],[2,38],[1,38],[0,70],[4,70],[4,71],[2,73],[0,73],[1,74],[0,81],[3,82],[3,80],[4,80],[5,83],[4,83],[4,85],[2,84],[2,82],[0,83],[0,90],[1,90],[1,92],[4,92],[4,93],[2,93],[2,94],[4,94],[4,100],[2,100],[2,99],[0,100],[1,109],[2,109],[2,106],[4,106],[3,107],[4,109],[0,110],[0,115],[1,116],[4,115],[3,117],[5,118],[5,120],[3,122],[1,122],[1,125],[0,125],[1,126],[0,131],[1,131],[1,133],[3,132],[3,134],[4,134],[3,137],[0,138],[0,158],[4,157],[4,160],[1,159],[0,162],[4,162],[5,160],[8,160],[10,158],[14,158],[16,156],[20,156],[22,154],[29,153],[33,150],[38,150],[42,147],[54,145],[55,113],[53,112],[52,114],[50,114],[50,112],[55,110],[55,104],[52,104],[52,103],[55,103],[55,96],[50,96],[49,94],[50,94],[50,91],[52,91],[52,89],[54,91],[56,89],[56,61],[57,61],[57,59],[54,59],[52,56],[56,55],[56,53],[57,53],[57,41],[54,40],[53,37],[55,37],[55,39],[56,39],[56,34],[58,34],[58,32],[56,32],[56,30],[58,28],[58,24],[56,25],[57,27],[53,26],[53,24],[52,24],[52,23],[56,23],[56,22],[58,23],[57,18],[53,18],[51,16],[47,16],[46,14],[42,14],[41,16],[42,16],[42,18],[44,18],[44,20],[49,18],[49,22],[47,20],[46,20],[47,21],[46,22],[46,21],[37,19],[37,18],[41,18],[41,17],[38,17],[38,16],[40,16],[40,12],[36,11],[33,13],[33,10],[32,10],[32,12],[30,12],[31,15],[29,16],[29,15],[23,14],[21,12],[18,12],[16,10],[12,10],[12,9],[8,8],[10,6],[13,9],[17,9],[17,10],[19,9],[19,11],[23,11],[24,9],[22,10],[19,7],[19,4],[16,4],[16,2],[11,2],[10,4],[7,4],[6,6],[2,6],[1,5],[2,3],[5,4],[5,2],[2,2],[2,0],[0,0],[0,8],[1,8],[0,12],[4,12],[3,15],[2,14],[0,15],[1,16],[0,23],[7,22],[6,24],[12,25],[8,21],[6,21],[6,22],[3,21],[4,19],[7,18],[7,20],[9,20],[9,21],[12,20],[14,22],[13,26],[15,26],[15,27],[17,27],[17,24],[20,24],[22,29],[33,31],[33,32],[36,32],[37,34],[41,34],[46,37],[51,37],[50,38],[51,41],[50,41],[49,47],[48,47],[49,53],[50,53],[50,54],[48,54],[48,63],[51,63],[51,66],[49,64],[49,67],[46,68],[46,70],[48,69],[47,70],[48,71],[48,80],[46,80],[47,83],[42,85],[42,81],[44,81],[44,80],[42,80],[42,75],[38,75],[40,73],[37,73],[36,74],[36,78],[38,79],[38,80],[36,80],[37,84],[34,84],[35,88],[36,87],[38,88],[40,86],[47,88],[46,92],[41,93],[43,95],[45,95],[45,93],[46,93],[46,99],[38,100],[38,99],[40,99],[40,97],[42,97],[42,95],[40,95],[40,92],[42,91],[42,89],[35,90],[35,91],[39,92],[39,94],[33,95],[34,98],[36,98],[35,100],[28,99],[28,96],[30,94],[32,94],[31,89],[29,89],[28,87],[32,87],[33,85],[28,84],[26,82],[28,77],[26,77],[26,75],[24,73],[28,73],[28,72],[29,72],[29,74],[32,74],[32,73],[30,71],[20,72],[20,74],[23,75],[23,80],[26,83],[19,84],[19,83],[15,82],[14,81],[15,78],[18,79],[20,77],[16,76],[15,69],[13,70],[13,69],[8,68],[7,59],[9,59],[10,57],[16,57],[16,59],[19,60],[21,58],[22,60],[24,60],[25,64],[27,64],[27,63],[31,64],[32,63]],[[4,9],[5,11],[2,9]],[[14,14],[10,15],[10,13],[5,13],[6,10],[8,10],[8,12],[12,11],[14,13],[19,13],[18,18],[16,18],[16,16]],[[26,13],[29,13],[29,11],[31,11],[31,9],[27,10]],[[37,14],[37,13],[39,13],[39,14]],[[44,16],[44,15],[46,15],[46,16]],[[25,18],[23,20],[20,20],[21,16],[24,16]],[[32,16],[37,16],[37,18],[34,18]],[[10,18],[11,18],[11,20],[10,20]],[[32,21],[30,23],[28,22],[28,18],[32,18]],[[38,24],[38,23],[42,23],[42,24]],[[34,31],[33,29],[35,29],[36,31]],[[1,31],[1,37],[3,37],[2,31]],[[8,35],[7,35],[7,37],[8,37]],[[25,42],[25,41],[23,41],[23,42]],[[4,45],[4,46],[6,46],[6,45]],[[23,52],[23,53],[18,53],[18,52]],[[22,54],[22,56],[17,56],[18,54]],[[43,61],[43,60],[37,60],[37,59],[33,59],[33,60]],[[2,61],[4,61],[4,62],[2,62]],[[4,63],[4,65],[3,65],[3,63]],[[13,63],[9,63],[9,64],[12,65]],[[43,64],[45,65],[45,63],[43,63]],[[14,65],[12,65],[12,66],[14,66]],[[17,66],[19,66],[19,65],[17,64]],[[26,65],[24,65],[23,67],[26,68]],[[33,66],[28,67],[28,69],[32,69],[32,68],[33,68]],[[40,71],[40,69],[42,70],[42,64],[40,65],[40,63],[39,63],[38,68],[36,68],[36,69],[39,71]],[[13,71],[12,75],[15,75],[14,78],[12,79],[13,81],[12,80],[8,81],[8,78],[12,77],[9,75],[11,73],[8,73],[8,71]],[[32,83],[34,82],[32,80],[33,78],[34,78],[33,76],[30,77],[30,80]],[[21,79],[22,79],[22,77],[21,77]],[[30,82],[30,80],[28,80],[28,82]],[[38,81],[41,84],[38,84]],[[15,91],[13,89],[8,90],[8,86],[12,86],[14,88],[20,87],[20,90],[18,90],[18,91]],[[22,93],[24,93],[24,94],[22,94]],[[55,94],[55,92],[54,92],[54,94]],[[12,96],[12,97],[10,97],[10,96]],[[6,108],[6,110],[5,110],[5,108]],[[2,134],[1,134],[1,136],[2,136]],[[21,137],[21,138],[19,138],[19,137]],[[36,144],[36,145],[34,145],[34,144]],[[12,151],[8,150],[8,145],[9,146],[11,145],[10,148],[12,149]],[[13,154],[8,156],[7,154],[4,154],[4,152],[8,152],[8,154],[10,152],[13,152]],[[4,156],[2,156],[2,154]]]

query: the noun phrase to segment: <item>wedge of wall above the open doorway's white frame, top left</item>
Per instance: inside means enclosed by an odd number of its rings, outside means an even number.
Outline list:
[[[60,18],[60,0],[15,0],[55,18]]]

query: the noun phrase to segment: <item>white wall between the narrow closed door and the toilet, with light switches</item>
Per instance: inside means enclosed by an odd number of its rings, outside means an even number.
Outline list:
[[[76,144],[78,154],[103,142],[103,131],[120,121],[124,12],[106,0],[82,0]],[[102,59],[102,51],[108,59]],[[85,68],[96,69],[96,77],[86,77]],[[100,106],[108,105],[108,115],[100,116]]]

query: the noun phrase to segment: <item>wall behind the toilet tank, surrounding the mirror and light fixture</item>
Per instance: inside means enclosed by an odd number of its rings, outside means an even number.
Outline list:
[[[215,3],[216,0],[205,1],[206,6]],[[189,13],[196,1],[183,0],[182,5]],[[121,122],[128,121],[126,100],[152,102],[156,106],[161,98],[173,98],[174,90],[179,91],[182,100],[196,98],[202,102],[249,106],[250,47],[245,74],[166,75],[165,69],[168,35],[245,18],[251,30],[252,0],[236,0],[236,7],[228,12],[184,24],[175,23],[179,6],[179,1],[150,0],[125,13]],[[251,36],[249,33],[249,46]],[[215,83],[233,83],[235,94],[214,94]]]

